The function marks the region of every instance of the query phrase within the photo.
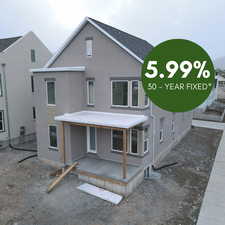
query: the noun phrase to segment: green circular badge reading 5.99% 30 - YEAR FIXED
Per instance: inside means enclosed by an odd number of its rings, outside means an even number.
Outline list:
[[[170,112],[195,109],[209,96],[215,70],[207,52],[184,39],[165,41],[146,56],[142,84],[150,100]]]

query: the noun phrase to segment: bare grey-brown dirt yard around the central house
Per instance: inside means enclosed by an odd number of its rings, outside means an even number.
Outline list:
[[[0,225],[192,225],[209,179],[221,131],[194,128],[162,162],[161,178],[145,180],[114,206],[76,189],[69,175],[46,194],[54,171],[32,153],[0,150]]]

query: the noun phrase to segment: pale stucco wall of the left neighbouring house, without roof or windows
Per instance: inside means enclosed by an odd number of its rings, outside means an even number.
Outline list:
[[[36,53],[36,62],[31,62],[30,50]],[[5,63],[8,108],[10,117],[11,138],[18,139],[20,127],[25,126],[26,134],[35,133],[34,106],[29,69],[42,67],[51,57],[51,53],[32,32],[0,53],[0,63]],[[3,76],[0,65],[0,73]],[[3,85],[4,86],[4,85]],[[6,131],[0,133],[0,141],[8,139],[7,116],[5,110],[5,90],[0,97],[0,109],[4,110]]]

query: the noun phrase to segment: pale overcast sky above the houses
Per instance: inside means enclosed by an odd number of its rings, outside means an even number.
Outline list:
[[[185,38],[225,56],[225,0],[2,0],[0,9],[0,38],[32,30],[52,52],[89,16],[153,45]]]

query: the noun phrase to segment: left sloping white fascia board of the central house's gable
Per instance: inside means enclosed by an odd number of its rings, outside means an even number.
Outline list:
[[[64,42],[61,48],[50,58],[50,60],[45,64],[44,68],[48,68],[55,62],[59,55],[64,51],[64,49],[70,44],[70,42],[79,34],[81,29],[86,25],[87,17],[80,23],[77,29],[69,36],[69,38]]]

